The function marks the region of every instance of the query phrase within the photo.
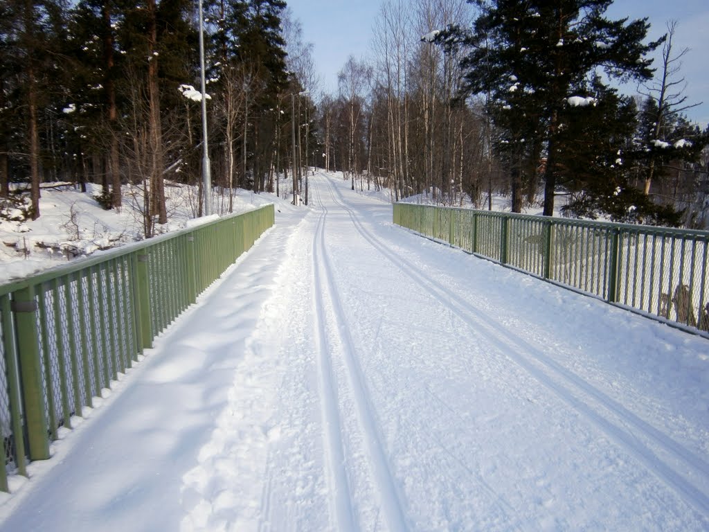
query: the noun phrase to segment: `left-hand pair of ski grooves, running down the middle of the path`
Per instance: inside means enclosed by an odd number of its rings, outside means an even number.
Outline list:
[[[369,404],[369,393],[364,382],[362,369],[357,362],[354,349],[354,342],[350,336],[350,327],[345,318],[345,313],[342,310],[340,298],[337,295],[337,285],[332,272],[332,264],[328,257],[327,248],[325,245],[325,223],[327,222],[328,209],[320,199],[320,190],[318,187],[313,187],[316,192],[321,214],[318,220],[316,237],[313,240],[313,262],[315,268],[315,287],[316,287],[316,316],[318,318],[318,349],[320,370],[320,381],[324,392],[323,397],[323,417],[327,421],[328,427],[325,429],[326,448],[328,448],[328,456],[330,464],[334,465],[334,477],[337,481],[337,529],[347,530],[353,523],[352,512],[349,507],[349,494],[347,493],[347,501],[342,499],[345,496],[346,480],[345,471],[337,467],[337,460],[340,459],[340,448],[342,441],[340,437],[333,434],[335,430],[340,431],[340,420],[337,413],[333,410],[337,409],[337,392],[334,389],[332,367],[328,356],[335,353],[333,343],[328,341],[328,333],[325,327],[325,299],[328,300],[334,311],[333,319],[336,327],[334,331],[338,331],[340,343],[342,345],[342,359],[346,369],[347,384],[349,384],[350,392],[354,398],[354,403],[357,410],[357,419],[359,427],[364,433],[364,445],[367,450],[367,458],[370,469],[376,481],[376,489],[379,492],[379,502],[381,511],[384,513],[386,524],[390,531],[408,530],[406,518],[404,516],[403,504],[401,503],[400,495],[396,487],[396,482],[391,475],[389,460],[386,457],[384,445],[381,443],[382,438],[379,433],[379,425],[376,422],[374,409]],[[323,296],[323,293],[325,296]],[[343,484],[344,483],[344,484]]]

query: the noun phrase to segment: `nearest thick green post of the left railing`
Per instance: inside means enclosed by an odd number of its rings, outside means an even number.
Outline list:
[[[37,302],[33,287],[15,292],[11,309],[15,314],[15,333],[21,367],[30,460],[47,460],[49,458],[49,427],[47,416],[45,416],[45,401],[42,391],[42,364],[35,320]]]

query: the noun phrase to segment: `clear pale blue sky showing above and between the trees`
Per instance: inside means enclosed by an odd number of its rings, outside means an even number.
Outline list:
[[[413,4],[413,3],[412,3]],[[315,60],[323,88],[337,90],[337,72],[347,57],[366,57],[374,19],[381,0],[288,0],[303,25],[303,38],[315,45]],[[703,105],[688,112],[703,125],[709,123],[709,1],[708,0],[617,0],[608,9],[609,18],[649,17],[650,38],[666,31],[666,22],[679,22],[675,47],[691,48],[683,58],[681,73],[687,81],[688,102]],[[657,65],[657,60],[656,60]],[[623,92],[635,92],[635,84]]]

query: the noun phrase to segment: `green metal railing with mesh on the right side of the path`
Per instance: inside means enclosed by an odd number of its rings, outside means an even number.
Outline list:
[[[393,222],[709,337],[709,232],[394,204]]]

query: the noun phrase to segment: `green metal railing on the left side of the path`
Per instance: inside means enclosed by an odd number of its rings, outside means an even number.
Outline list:
[[[0,489],[273,224],[267,205],[1,285]]]

